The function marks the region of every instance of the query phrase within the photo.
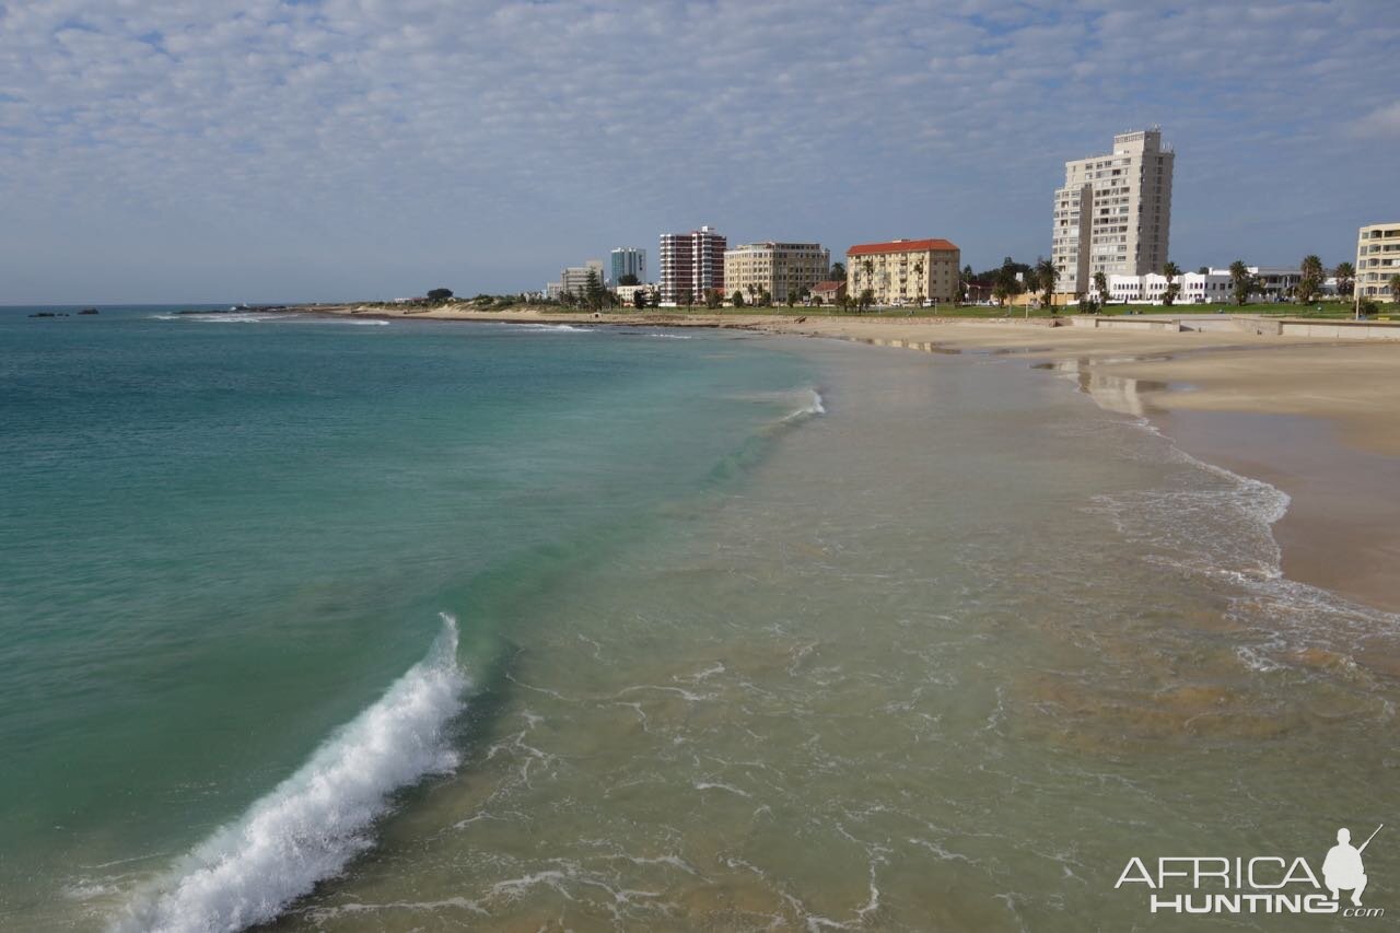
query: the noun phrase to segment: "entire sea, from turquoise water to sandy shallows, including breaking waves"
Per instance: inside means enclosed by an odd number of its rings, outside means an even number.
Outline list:
[[[1075,378],[174,311],[0,310],[4,929],[1177,929],[1394,815],[1397,618]]]

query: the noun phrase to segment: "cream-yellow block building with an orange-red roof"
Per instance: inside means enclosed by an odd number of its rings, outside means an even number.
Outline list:
[[[879,305],[952,301],[960,262],[946,240],[858,244],[846,251],[846,291],[860,298],[869,289]]]

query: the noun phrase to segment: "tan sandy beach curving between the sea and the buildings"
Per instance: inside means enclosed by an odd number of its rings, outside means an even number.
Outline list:
[[[1018,356],[1078,380],[1100,408],[1145,417],[1183,451],[1291,499],[1274,525],[1284,574],[1400,612],[1400,345],[1243,331],[1039,322],[664,312],[557,314],[351,305],[288,311],[381,319],[699,326],[832,338],[925,353]]]

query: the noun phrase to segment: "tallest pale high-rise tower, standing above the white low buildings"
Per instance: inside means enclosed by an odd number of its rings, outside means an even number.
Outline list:
[[[1161,272],[1172,231],[1172,167],[1162,130],[1119,133],[1113,151],[1064,164],[1054,193],[1050,258],[1057,291],[1079,294],[1093,273],[1142,276]]]

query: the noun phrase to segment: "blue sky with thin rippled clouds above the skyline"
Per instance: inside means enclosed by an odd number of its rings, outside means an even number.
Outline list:
[[[0,304],[542,289],[731,244],[1050,252],[1161,125],[1177,265],[1400,220],[1396,0],[0,0]]]

